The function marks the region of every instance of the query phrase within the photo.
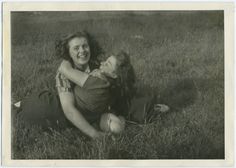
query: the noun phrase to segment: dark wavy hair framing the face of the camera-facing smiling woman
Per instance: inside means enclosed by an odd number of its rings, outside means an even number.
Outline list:
[[[76,32],[74,34],[70,34],[70,35],[67,35],[66,37],[63,37],[60,40],[57,40],[56,45],[55,45],[56,55],[59,56],[60,58],[70,61],[71,64],[74,65],[72,58],[70,57],[70,54],[69,54],[68,44],[72,39],[76,37],[77,38],[83,37],[87,39],[89,47],[90,47],[90,53],[91,53],[91,57],[88,64],[91,69],[97,68],[100,64],[98,61],[98,55],[102,54],[103,51],[102,51],[102,48],[99,46],[98,42],[94,39],[94,37],[91,36],[86,31]]]

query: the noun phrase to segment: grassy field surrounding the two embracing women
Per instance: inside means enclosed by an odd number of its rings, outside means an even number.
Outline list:
[[[76,129],[27,127],[13,116],[14,159],[224,159],[223,12],[12,13],[12,101],[54,89],[55,40],[87,30],[125,50],[139,92],[171,107],[155,123],[92,141]]]

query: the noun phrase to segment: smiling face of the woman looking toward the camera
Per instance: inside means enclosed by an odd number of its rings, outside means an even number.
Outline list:
[[[75,66],[87,65],[91,54],[88,40],[84,37],[75,37],[69,41],[68,45],[69,54]]]

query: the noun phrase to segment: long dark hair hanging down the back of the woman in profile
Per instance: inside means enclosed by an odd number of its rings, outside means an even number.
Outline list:
[[[113,89],[113,95],[116,97],[115,107],[116,111],[121,115],[126,116],[130,106],[131,99],[134,97],[136,92],[135,89],[135,73],[133,66],[130,62],[130,57],[124,51],[120,51],[114,55],[117,59],[117,79],[116,87]],[[118,109],[117,109],[118,108]]]

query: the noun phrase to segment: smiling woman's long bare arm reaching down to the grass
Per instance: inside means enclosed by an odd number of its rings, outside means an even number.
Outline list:
[[[92,127],[75,107],[75,98],[73,93],[61,92],[59,93],[59,97],[64,114],[69,121],[71,121],[83,133],[92,138],[99,138],[102,136],[102,133]]]

